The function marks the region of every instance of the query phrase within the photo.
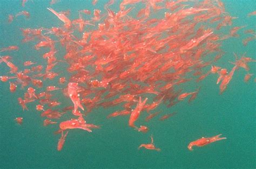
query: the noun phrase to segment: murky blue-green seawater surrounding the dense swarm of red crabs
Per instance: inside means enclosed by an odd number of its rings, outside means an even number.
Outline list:
[[[58,11],[71,9],[71,17],[75,18],[77,10],[104,10],[105,3],[106,1],[100,1],[96,6],[92,6],[91,1],[62,0],[52,5],[52,8]],[[238,17],[233,20],[232,26],[246,25],[246,29],[255,30],[256,16],[248,18],[247,13],[256,10],[256,1],[226,0],[224,4],[231,16]],[[56,17],[46,9],[47,7],[49,1],[43,0],[29,1],[25,8],[22,8],[21,1],[0,1],[0,48],[9,45],[18,45],[21,48],[17,52],[2,54],[11,55],[18,67],[21,61],[43,62],[40,57],[43,51],[35,51],[32,47],[35,42],[29,43],[30,45],[21,43],[23,37],[20,28],[62,24],[56,22]],[[31,13],[29,20],[21,17],[12,24],[7,23],[10,13],[15,14],[22,10]],[[243,46],[241,41],[246,36],[242,32],[243,30],[239,31],[239,38],[224,41],[221,48],[225,54],[217,62],[218,66],[230,70],[233,65],[227,61],[234,60],[233,52],[247,52],[248,57],[256,59],[256,41]],[[57,151],[59,135],[53,134],[57,126],[43,126],[43,118],[35,110],[35,103],[28,104],[30,111],[22,111],[17,98],[23,95],[24,90],[18,88],[16,93],[11,94],[9,83],[1,82],[0,168],[255,168],[255,63],[250,63],[250,67],[250,73],[254,73],[252,79],[245,83],[244,75],[247,72],[239,69],[222,95],[219,95],[219,86],[215,85],[217,75],[209,75],[197,84],[201,86],[201,90],[192,103],[184,101],[172,108],[161,105],[157,110],[163,111],[163,114],[177,112],[166,121],[161,122],[158,117],[147,123],[143,120],[146,115],[142,114],[142,118],[136,123],[149,127],[150,131],[146,134],[128,127],[129,116],[105,118],[118,110],[117,108],[98,108],[86,117],[86,121],[101,125],[101,129],[95,129],[92,133],[82,130],[70,131],[60,152]],[[0,75],[8,71],[9,68],[0,65]],[[190,89],[190,86],[186,88]],[[61,96],[59,94],[59,97]],[[70,101],[62,99],[63,104],[71,105]],[[14,121],[17,116],[23,117],[22,125]],[[194,151],[187,149],[188,143],[193,140],[220,133],[227,139],[204,147],[195,147]],[[150,143],[151,134],[154,144],[161,151],[138,150],[140,144]]]

